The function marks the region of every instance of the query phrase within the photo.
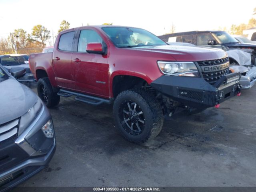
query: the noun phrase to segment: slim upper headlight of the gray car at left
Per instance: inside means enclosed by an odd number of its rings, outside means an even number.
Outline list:
[[[42,103],[40,99],[36,101],[34,106],[30,108],[24,115],[20,118],[19,132],[18,136],[26,130],[26,128],[31,124],[31,122],[36,118],[38,111],[42,108]]]

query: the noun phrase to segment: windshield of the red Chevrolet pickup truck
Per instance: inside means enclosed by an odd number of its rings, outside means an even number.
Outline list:
[[[118,48],[166,45],[166,42],[144,29],[103,27],[102,30]]]

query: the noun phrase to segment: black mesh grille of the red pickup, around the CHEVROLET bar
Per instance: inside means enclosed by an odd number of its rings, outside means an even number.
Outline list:
[[[216,60],[208,60],[208,61],[198,61],[199,66],[211,66],[211,65],[218,65],[224,64],[228,62],[228,57]],[[204,80],[211,85],[214,85],[222,76],[228,74],[229,68],[224,70],[219,70],[215,72],[202,72]]]

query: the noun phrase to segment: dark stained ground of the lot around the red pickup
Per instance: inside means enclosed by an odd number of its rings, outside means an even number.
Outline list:
[[[57,150],[21,186],[256,186],[256,86],[200,114],[165,120],[140,146],[116,131],[112,106],[62,98]]]

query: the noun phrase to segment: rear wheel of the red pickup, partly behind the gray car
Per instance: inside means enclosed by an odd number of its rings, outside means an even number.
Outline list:
[[[48,108],[57,106],[60,103],[58,92],[54,92],[48,77],[40,78],[37,83],[38,96]]]

